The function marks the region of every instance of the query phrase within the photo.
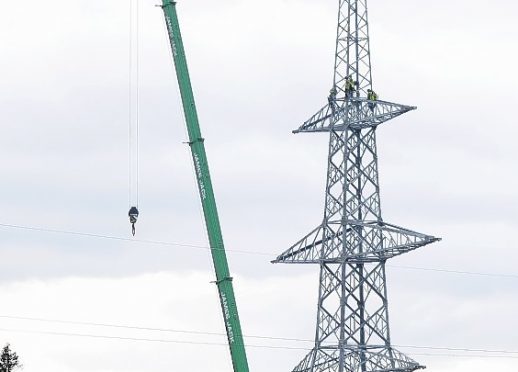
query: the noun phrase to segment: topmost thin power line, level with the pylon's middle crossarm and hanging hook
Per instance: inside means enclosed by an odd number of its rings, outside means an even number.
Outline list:
[[[14,224],[6,224],[6,223],[0,223],[0,227],[34,231],[34,232],[74,235],[74,236],[87,237],[87,238],[108,239],[108,240],[116,240],[116,241],[123,241],[123,242],[129,242],[129,243],[140,243],[140,244],[149,244],[149,245],[186,247],[186,248],[200,249],[200,250],[211,250],[211,248],[206,245],[165,242],[165,241],[158,241],[158,240],[131,239],[131,238],[124,238],[121,236],[94,234],[94,233],[86,233],[86,232],[80,232],[80,231],[60,230],[60,229],[51,229],[51,228],[44,228],[44,227],[14,225]],[[223,248],[213,247],[212,249],[218,250],[218,249],[223,249]],[[225,251],[232,252],[232,253],[239,253],[239,254],[267,256],[267,257],[274,257],[276,255],[275,253],[237,250],[237,249],[225,249]],[[448,270],[448,269],[440,269],[440,268],[432,268],[432,267],[417,267],[417,266],[402,266],[402,265],[387,265],[387,266],[397,268],[397,269],[405,269],[405,270],[420,270],[420,271],[440,272],[440,273],[459,274],[459,275],[473,275],[473,276],[484,276],[484,277],[494,277],[494,278],[518,279],[517,274],[483,273],[483,272],[476,272],[476,271],[460,271],[460,270]]]

